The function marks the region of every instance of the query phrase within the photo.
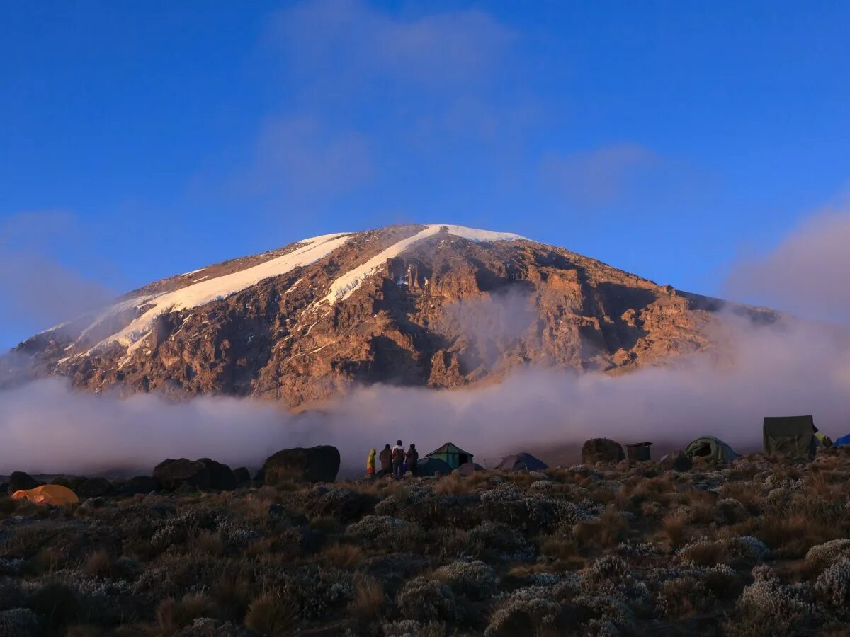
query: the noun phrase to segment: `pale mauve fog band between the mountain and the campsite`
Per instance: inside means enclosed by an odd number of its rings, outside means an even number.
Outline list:
[[[687,443],[712,434],[757,448],[762,417],[814,414],[831,436],[850,431],[850,345],[812,324],[753,328],[725,318],[722,355],[621,376],[521,369],[499,384],[433,391],[360,387],[321,412],[289,414],[247,398],[168,403],[72,391],[58,379],[0,393],[0,474],[150,471],[167,457],[258,466],[280,448],[336,445],[359,467],[369,448],[401,438],[422,453],[449,440],[491,459],[527,448]]]

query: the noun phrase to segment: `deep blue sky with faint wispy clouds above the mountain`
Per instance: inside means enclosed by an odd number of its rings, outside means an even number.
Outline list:
[[[845,210],[848,26],[842,2],[0,4],[0,346],[389,223],[723,294]]]

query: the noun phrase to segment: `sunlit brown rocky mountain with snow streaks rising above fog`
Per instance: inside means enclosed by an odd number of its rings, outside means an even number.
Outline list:
[[[21,367],[66,375],[94,392],[225,393],[294,407],[353,383],[457,387],[519,365],[665,364],[716,351],[722,306],[516,235],[393,226],[158,281],[13,355],[16,376]]]

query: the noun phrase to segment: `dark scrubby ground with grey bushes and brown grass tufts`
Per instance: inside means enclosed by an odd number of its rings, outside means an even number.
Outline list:
[[[3,498],[0,634],[847,634],[848,477],[829,449]]]

